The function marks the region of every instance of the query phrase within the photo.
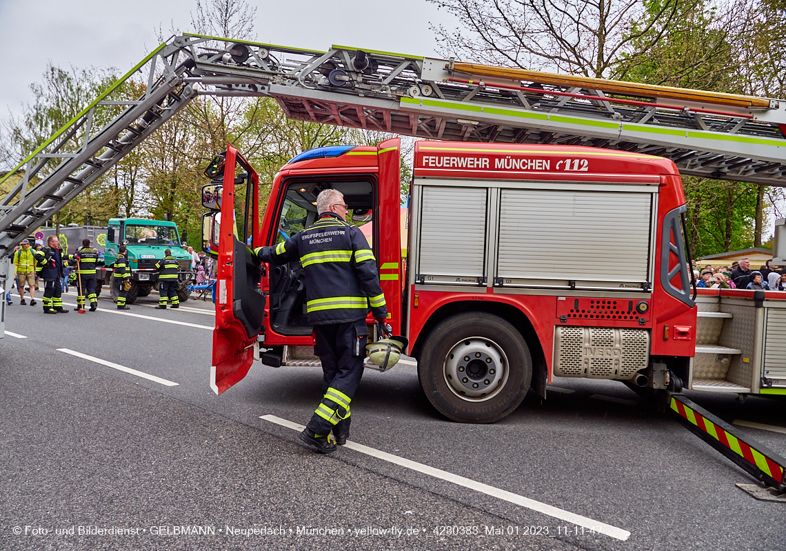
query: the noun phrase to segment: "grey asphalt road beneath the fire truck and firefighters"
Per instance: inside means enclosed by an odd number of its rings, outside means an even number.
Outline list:
[[[744,494],[744,472],[622,384],[556,380],[567,392],[465,425],[435,413],[415,369],[367,370],[351,441],[370,450],[325,457],[285,426],[307,422],[320,369],[257,363],[213,394],[209,302],[58,316],[14,302],[0,549],[786,549],[786,505]],[[783,401],[689,397],[786,426]],[[786,455],[786,434],[744,430]]]

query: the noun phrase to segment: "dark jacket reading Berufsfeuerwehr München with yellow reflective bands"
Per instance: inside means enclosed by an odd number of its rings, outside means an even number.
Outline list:
[[[299,231],[274,247],[255,249],[259,260],[285,264],[300,259],[306,273],[306,310],[313,325],[387,318],[385,297],[376,272],[376,259],[357,226],[332,212],[314,226]]]

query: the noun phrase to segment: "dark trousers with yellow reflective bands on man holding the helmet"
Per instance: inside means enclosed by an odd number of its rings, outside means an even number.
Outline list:
[[[368,342],[369,328],[365,319],[315,325],[314,335],[317,345],[314,353],[322,362],[322,399],[307,428],[325,436],[342,421],[350,417],[350,402],[358,390],[363,375],[365,345]]]

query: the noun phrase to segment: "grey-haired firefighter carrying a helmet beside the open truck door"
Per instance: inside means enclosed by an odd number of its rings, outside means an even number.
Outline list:
[[[317,197],[319,219],[274,247],[259,247],[259,261],[285,264],[299,259],[306,274],[308,321],[314,353],[322,363],[323,398],[300,439],[328,454],[347,442],[350,402],[363,374],[369,306],[377,321],[387,318],[376,260],[361,231],[346,222],[343,194],[325,189]],[[331,438],[331,432],[335,438]]]

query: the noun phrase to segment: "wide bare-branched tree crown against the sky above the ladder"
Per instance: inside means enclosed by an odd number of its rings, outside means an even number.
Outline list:
[[[685,3],[662,0],[639,26],[645,9],[636,0],[428,1],[461,23],[458,31],[432,26],[446,55],[597,78],[655,46]]]

